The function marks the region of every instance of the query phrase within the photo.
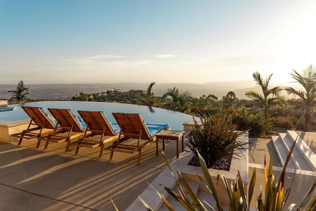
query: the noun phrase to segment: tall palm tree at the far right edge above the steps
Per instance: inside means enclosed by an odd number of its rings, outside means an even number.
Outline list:
[[[290,76],[305,88],[305,91],[297,91],[289,86],[284,87],[288,94],[293,94],[294,96],[299,96],[301,98],[302,103],[305,106],[305,123],[303,130],[308,131],[308,125],[311,118],[311,107],[314,104],[316,97],[316,67],[313,67],[311,64],[303,70],[302,75],[296,70],[293,70],[293,73],[290,73]]]

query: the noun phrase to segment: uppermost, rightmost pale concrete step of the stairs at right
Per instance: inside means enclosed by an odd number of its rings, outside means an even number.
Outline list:
[[[295,147],[301,152],[302,156],[309,164],[313,171],[316,171],[316,154],[311,148],[300,138],[296,131],[287,130],[286,133],[294,141],[297,139]]]

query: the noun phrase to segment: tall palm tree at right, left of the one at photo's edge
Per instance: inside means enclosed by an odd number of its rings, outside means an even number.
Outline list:
[[[281,96],[281,90],[282,88],[280,86],[276,86],[272,89],[268,88],[269,81],[271,79],[273,74],[267,76],[265,79],[263,79],[260,74],[256,71],[252,74],[252,78],[256,82],[256,84],[260,85],[262,88],[262,94],[259,94],[255,91],[246,91],[245,95],[252,100],[256,100],[260,103],[260,106],[264,110],[264,117],[265,120],[268,119],[268,109],[274,105],[282,106],[286,104],[285,97]]]

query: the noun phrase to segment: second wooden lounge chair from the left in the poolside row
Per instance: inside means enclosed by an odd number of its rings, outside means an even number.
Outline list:
[[[57,125],[54,128],[53,133],[40,136],[38,138],[39,141],[37,147],[40,146],[41,141],[46,141],[44,149],[47,148],[49,142],[61,143],[66,141],[66,153],[69,150],[70,140],[91,133],[90,131],[82,127],[78,118],[70,109],[48,108],[48,111],[57,121]],[[63,133],[57,133],[60,128],[63,130]]]

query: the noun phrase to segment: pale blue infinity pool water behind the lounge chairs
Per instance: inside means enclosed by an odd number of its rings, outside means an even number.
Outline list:
[[[29,119],[21,106],[36,106],[47,108],[71,109],[78,114],[78,110],[85,111],[103,111],[109,121],[115,122],[112,112],[121,113],[139,113],[145,123],[168,124],[173,130],[183,130],[182,124],[185,121],[193,120],[193,116],[179,112],[173,112],[161,108],[153,108],[155,113],[149,111],[147,106],[139,106],[124,103],[106,103],[106,102],[82,102],[82,101],[40,101],[25,104],[13,104],[8,107],[16,107],[16,110],[0,112],[0,121],[18,121]]]

